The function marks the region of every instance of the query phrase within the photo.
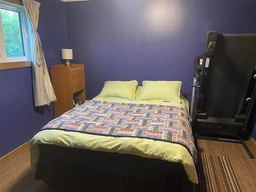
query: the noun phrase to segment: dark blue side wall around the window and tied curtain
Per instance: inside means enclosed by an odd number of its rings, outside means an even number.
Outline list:
[[[38,32],[47,65],[60,63],[68,45],[65,3],[40,0]],[[34,108],[31,68],[0,71],[0,157],[30,140],[53,119],[53,106]]]

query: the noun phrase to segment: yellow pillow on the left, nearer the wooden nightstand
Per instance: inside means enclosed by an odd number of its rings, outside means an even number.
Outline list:
[[[106,81],[98,96],[119,97],[125,99],[135,99],[135,92],[138,86],[136,80],[132,81]]]

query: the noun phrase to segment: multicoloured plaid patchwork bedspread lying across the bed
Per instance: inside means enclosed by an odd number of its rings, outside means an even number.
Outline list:
[[[87,100],[50,121],[41,130],[65,130],[113,137],[137,137],[178,143],[196,161],[187,111],[179,106]]]

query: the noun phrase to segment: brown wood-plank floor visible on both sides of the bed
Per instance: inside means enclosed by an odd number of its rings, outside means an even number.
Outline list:
[[[256,157],[256,147],[246,142]],[[226,156],[231,159],[244,192],[256,191],[256,160],[250,159],[242,144],[198,140],[199,153]],[[0,164],[0,191],[58,191],[42,181],[34,180],[30,169],[29,148]]]

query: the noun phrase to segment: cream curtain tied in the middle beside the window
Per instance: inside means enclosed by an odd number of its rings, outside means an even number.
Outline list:
[[[23,5],[27,11],[32,26],[32,71],[34,105],[49,105],[51,101],[56,100],[56,96],[54,94],[52,83],[49,77],[40,37],[36,31],[39,19],[40,3],[34,0],[23,0]]]

